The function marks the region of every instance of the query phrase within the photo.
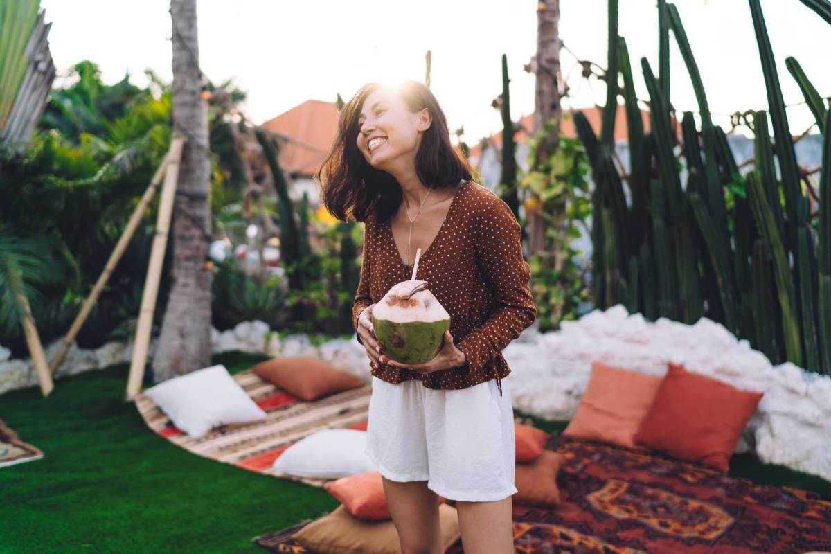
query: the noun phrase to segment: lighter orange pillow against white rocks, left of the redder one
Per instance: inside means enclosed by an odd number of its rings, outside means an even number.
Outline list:
[[[595,361],[577,412],[563,435],[637,448],[635,434],[663,377]]]

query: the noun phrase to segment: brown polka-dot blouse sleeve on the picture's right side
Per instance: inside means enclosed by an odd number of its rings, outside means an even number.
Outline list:
[[[497,306],[482,326],[456,344],[465,352],[471,375],[499,355],[537,316],[529,287],[531,267],[523,258],[522,228],[514,212],[497,197],[472,227],[476,259]]]

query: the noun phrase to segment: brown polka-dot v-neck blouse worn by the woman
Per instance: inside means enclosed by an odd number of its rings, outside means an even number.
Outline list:
[[[504,200],[465,181],[456,191],[445,220],[419,259],[419,280],[450,314],[450,334],[465,352],[465,364],[420,374],[389,364],[371,375],[394,385],[420,379],[430,389],[465,389],[511,373],[502,351],[534,323],[531,268],[525,262],[522,228]],[[352,326],[366,306],[381,302],[391,287],[412,277],[392,235],[391,223],[370,214],[364,222],[361,278],[352,307]],[[357,336],[361,342],[361,337]]]

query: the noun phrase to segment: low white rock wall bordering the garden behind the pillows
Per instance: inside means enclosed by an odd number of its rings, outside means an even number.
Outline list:
[[[765,392],[748,422],[737,452],[755,450],[766,463],[779,463],[831,480],[831,377],[785,363],[773,366],[765,355],[737,341],[714,321],[695,325],[659,319],[651,323],[623,306],[595,310],[578,321],[563,321],[560,331],[536,327],[504,350],[512,369],[509,387],[514,407],[545,419],[571,419],[577,410],[593,360],[651,375],[664,375],[669,361],[740,389]],[[233,330],[211,332],[214,353],[262,352],[311,355],[369,382],[369,362],[354,336],[313,346],[308,336],[282,341],[263,321],[246,321]],[[47,346],[47,358],[59,342]],[[155,341],[150,344],[150,355]],[[131,345],[107,343],[91,351],[73,345],[58,376],[129,361]],[[0,347],[0,393],[37,385],[30,360],[9,360]],[[60,386],[60,383],[57,384]]]

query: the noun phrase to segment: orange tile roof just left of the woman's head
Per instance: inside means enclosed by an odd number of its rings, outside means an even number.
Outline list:
[[[288,137],[280,151],[283,170],[293,177],[317,174],[337,137],[337,105],[307,100],[263,123],[273,133]]]

